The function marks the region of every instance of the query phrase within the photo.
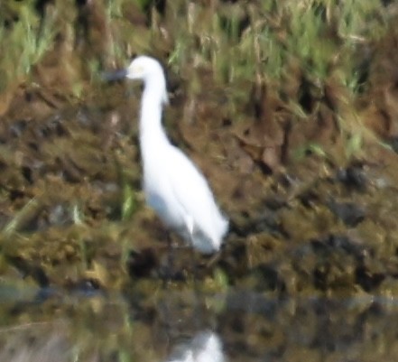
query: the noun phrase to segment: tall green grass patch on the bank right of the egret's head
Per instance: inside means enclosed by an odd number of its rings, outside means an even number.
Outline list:
[[[222,11],[211,13],[208,7],[190,5],[184,19],[177,3],[166,20],[175,41],[169,64],[174,70],[189,69],[192,63],[210,67],[224,84],[255,81],[256,76],[282,82],[295,61],[303,77],[317,86],[340,70],[342,84],[356,92],[356,50],[386,32],[377,0],[339,5],[328,0],[264,1],[263,11],[248,6],[248,24],[241,34],[236,8],[244,11],[244,5],[223,5],[234,10],[227,20]]]

